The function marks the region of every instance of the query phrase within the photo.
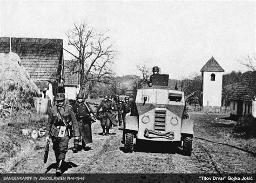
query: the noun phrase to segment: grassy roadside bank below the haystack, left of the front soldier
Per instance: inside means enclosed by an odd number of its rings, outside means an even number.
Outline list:
[[[9,118],[0,118],[1,173],[11,173],[35,153],[35,143],[41,139],[34,140],[30,136],[24,136],[22,129],[39,130],[45,126],[46,121],[46,115],[35,112],[22,112]]]

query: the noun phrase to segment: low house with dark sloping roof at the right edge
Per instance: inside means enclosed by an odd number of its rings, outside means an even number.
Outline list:
[[[256,71],[245,74],[234,92],[228,97],[230,100],[231,116],[252,114],[256,117]]]

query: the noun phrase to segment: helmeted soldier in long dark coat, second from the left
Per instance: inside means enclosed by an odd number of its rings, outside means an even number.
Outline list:
[[[74,153],[77,153],[78,151],[78,144],[81,140],[82,136],[82,147],[85,150],[86,144],[92,143],[92,128],[91,128],[91,118],[89,117],[90,111],[85,106],[84,103],[84,94],[78,94],[77,95],[77,101],[75,105],[73,105],[73,109],[76,115],[76,119],[79,126],[79,139],[74,140],[74,147],[73,149]]]

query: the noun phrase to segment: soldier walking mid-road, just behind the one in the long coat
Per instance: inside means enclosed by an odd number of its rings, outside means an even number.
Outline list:
[[[105,96],[104,99],[105,100],[100,103],[100,105],[96,111],[96,114],[100,118],[100,124],[102,125],[102,129],[103,129],[102,135],[109,136],[109,130],[111,128],[111,123],[114,126],[117,126],[117,121],[116,121],[116,119],[113,119],[113,117],[112,117],[111,105],[110,105],[110,102],[108,101],[109,97]],[[100,108],[102,108],[102,111],[100,112],[100,115],[99,115]]]

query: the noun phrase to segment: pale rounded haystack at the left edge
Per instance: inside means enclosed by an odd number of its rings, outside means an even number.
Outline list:
[[[16,53],[0,53],[0,88],[4,89],[14,85],[26,91],[39,93],[40,90],[30,79],[26,69],[19,65],[19,62],[21,62],[21,58]]]

